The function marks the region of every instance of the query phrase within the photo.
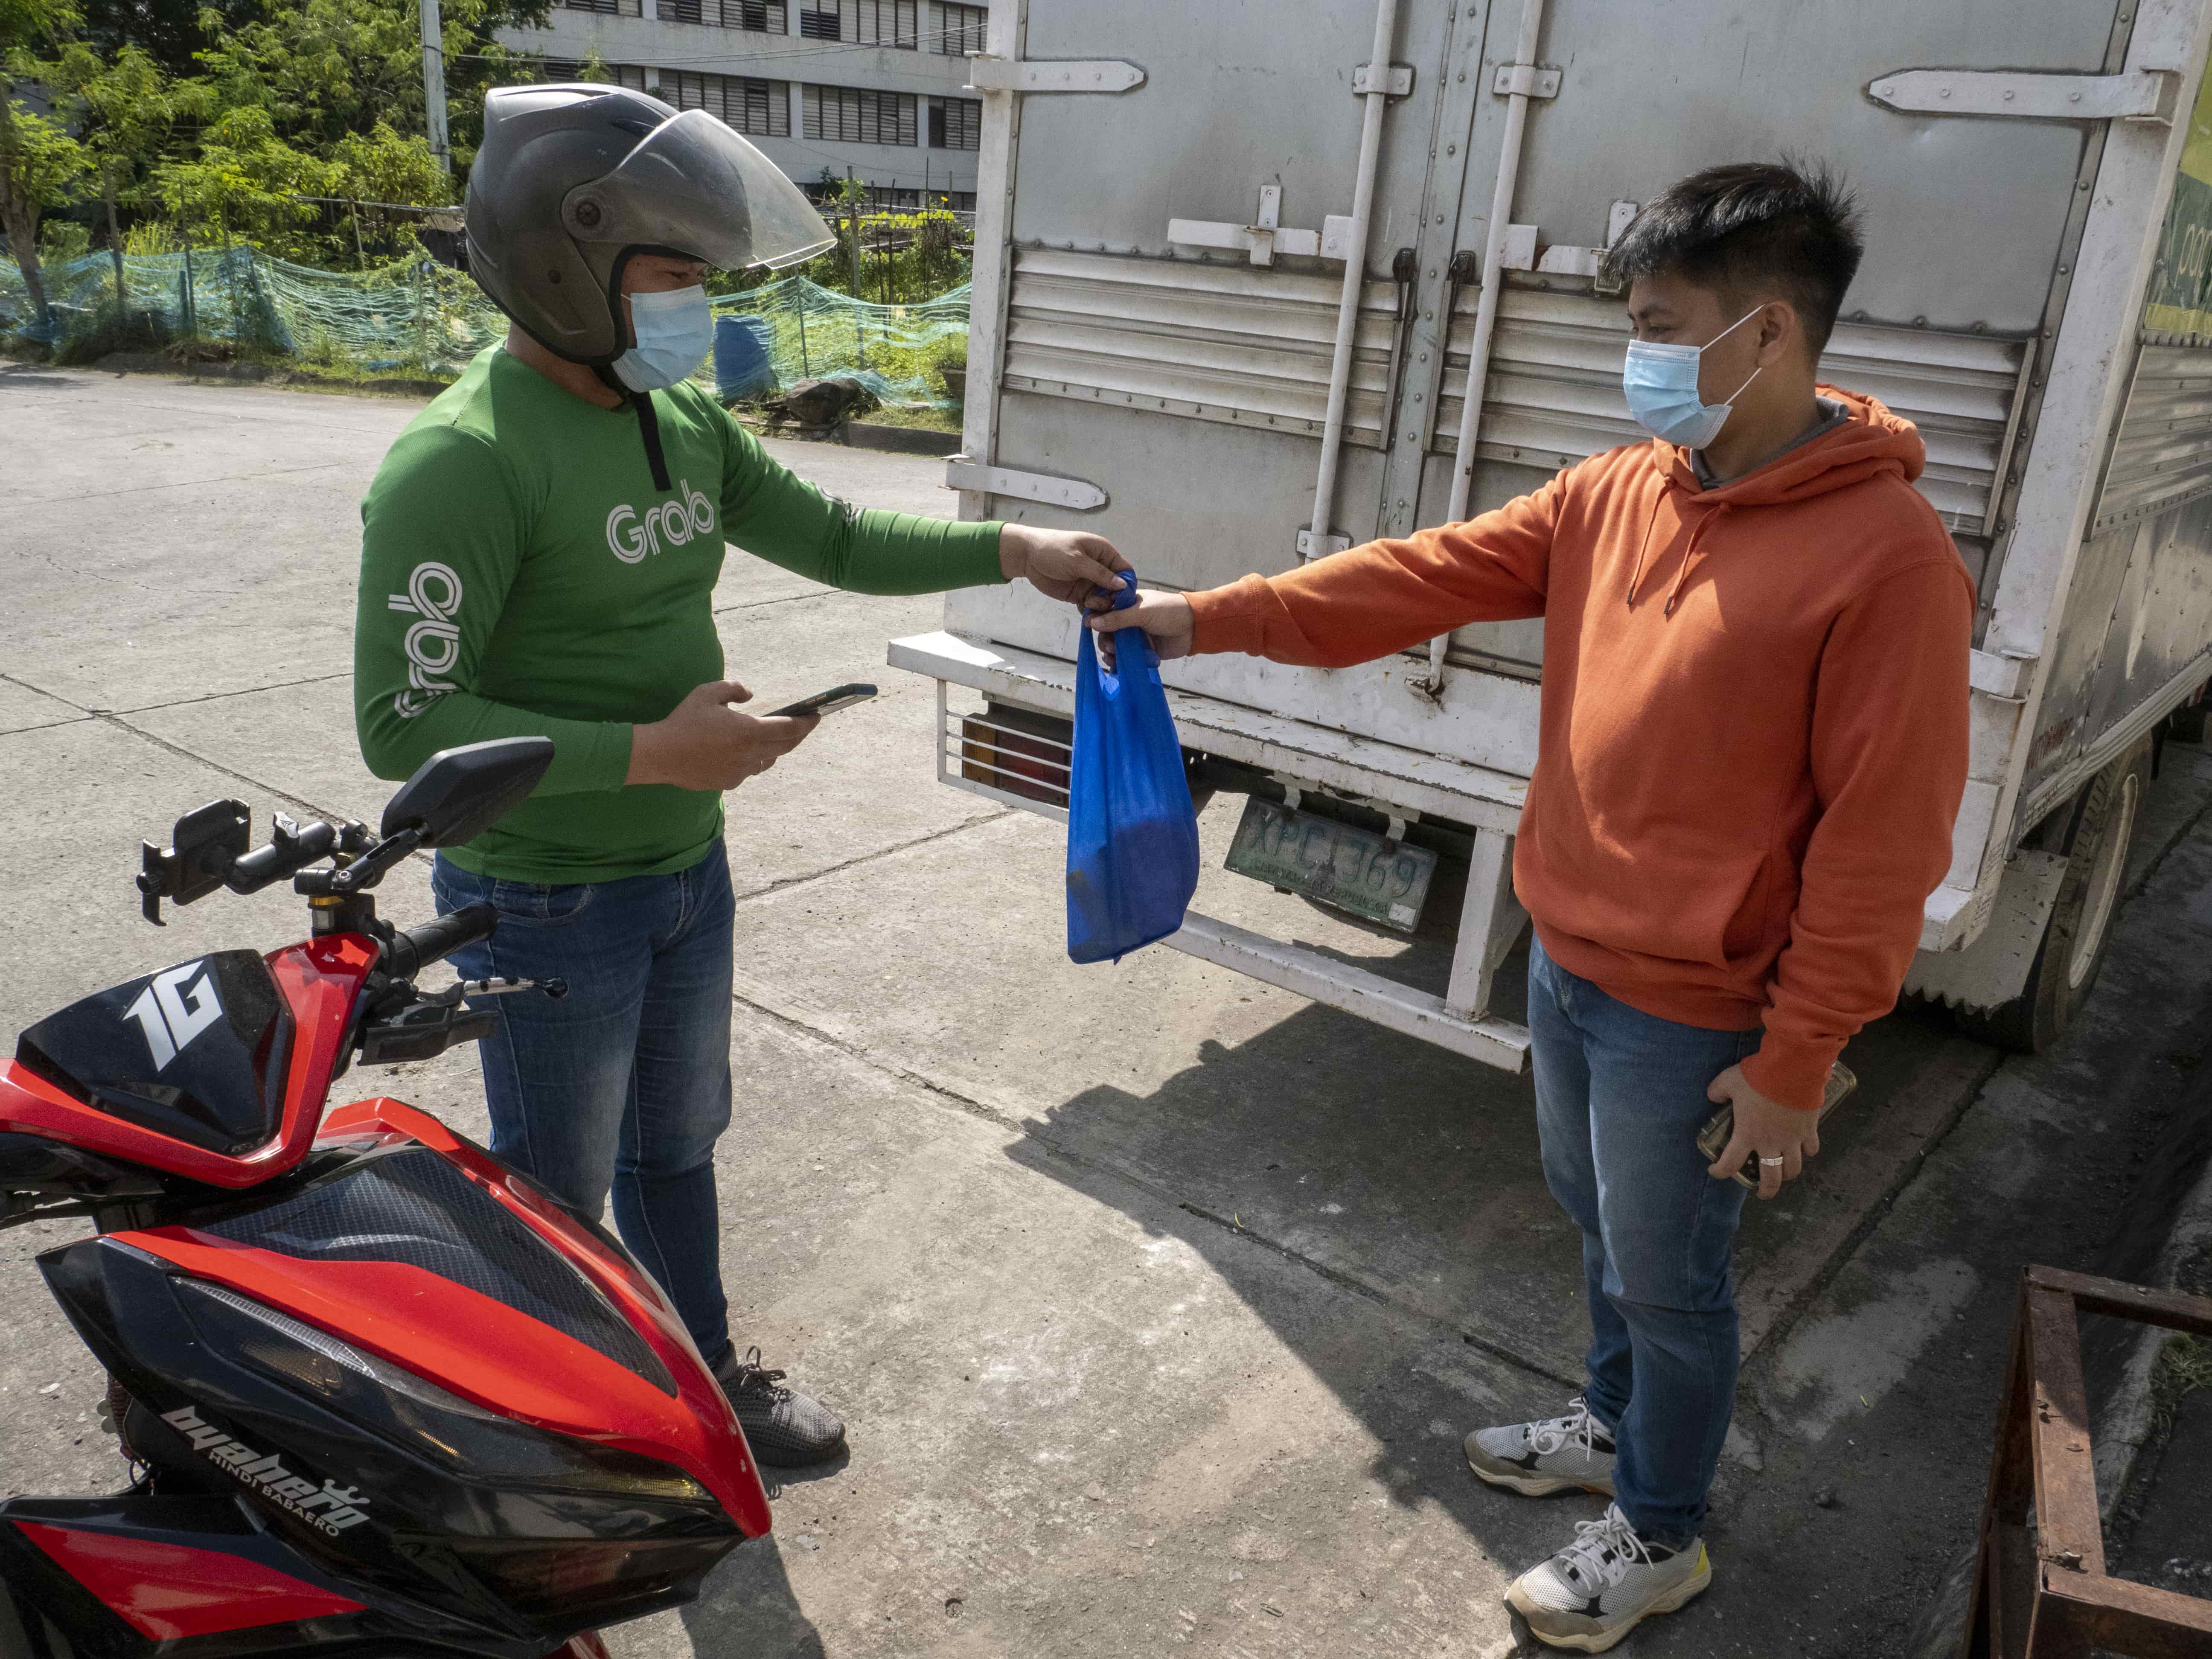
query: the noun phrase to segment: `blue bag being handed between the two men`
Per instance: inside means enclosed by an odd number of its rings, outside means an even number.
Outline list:
[[[1115,611],[1135,602],[1137,577],[1124,573]],[[1077,962],[1119,962],[1168,938],[1199,889],[1199,814],[1144,630],[1115,635],[1115,668],[1106,672],[1084,628],[1068,761],[1068,956]]]

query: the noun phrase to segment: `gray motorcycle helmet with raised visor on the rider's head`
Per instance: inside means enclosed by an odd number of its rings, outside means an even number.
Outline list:
[[[493,86],[469,168],[469,274],[571,363],[613,363],[622,261],[792,265],[836,246],[783,170],[703,108],[573,82]]]

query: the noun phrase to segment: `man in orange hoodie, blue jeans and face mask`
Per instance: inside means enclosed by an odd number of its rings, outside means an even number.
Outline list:
[[[1325,668],[1544,617],[1513,885],[1590,1380],[1566,1416],[1478,1429],[1467,1458],[1513,1491],[1615,1498],[1506,1593],[1551,1646],[1610,1648],[1710,1582],[1736,1385],[1728,1177],[1756,1157],[1772,1199],[1820,1150],[1829,1066],[1896,1002],[1951,863],[1975,593],[1911,487],[1911,422],[1816,383],[1858,257],[1827,175],[1683,179],[1608,254],[1650,442],[1467,524],[1091,617],[1161,657]],[[1717,1102],[1736,1133],[1708,1166]]]

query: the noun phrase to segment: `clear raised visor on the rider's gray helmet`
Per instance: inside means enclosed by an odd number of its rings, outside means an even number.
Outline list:
[[[703,108],[655,126],[622,166],[577,186],[571,210],[580,197],[599,204],[591,241],[672,248],[719,270],[796,265],[836,246],[783,168]]]

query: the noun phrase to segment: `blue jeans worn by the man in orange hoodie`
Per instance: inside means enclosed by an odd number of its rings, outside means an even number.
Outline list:
[[[1683,1546],[1736,1405],[1728,1250],[1745,1190],[1705,1175],[1705,1086],[1759,1031],[1637,1013],[1528,951],[1528,1033],[1544,1181],[1582,1228],[1590,1416],[1613,1431],[1615,1491],[1637,1535]]]

